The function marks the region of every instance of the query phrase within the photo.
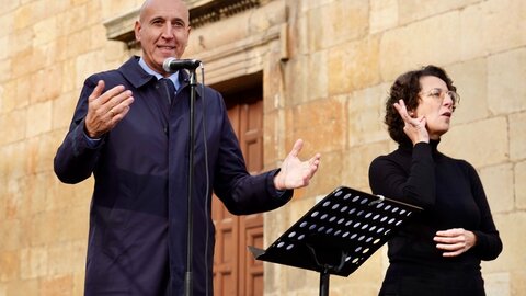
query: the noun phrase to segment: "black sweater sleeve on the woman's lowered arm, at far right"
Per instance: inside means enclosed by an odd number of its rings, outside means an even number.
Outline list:
[[[477,244],[473,248],[473,251],[481,260],[494,260],[502,252],[502,241],[493,221],[488,198],[479,174],[471,164],[468,162],[465,163],[468,170],[474,202],[480,212],[480,227],[479,229],[473,230],[473,234],[477,236]]]

